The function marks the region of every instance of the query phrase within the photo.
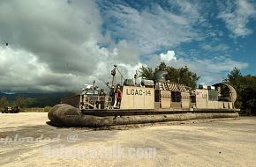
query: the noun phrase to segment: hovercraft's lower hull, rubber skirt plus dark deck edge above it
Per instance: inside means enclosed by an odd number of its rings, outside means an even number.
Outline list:
[[[62,127],[111,127],[184,120],[238,118],[235,110],[87,110],[55,105],[48,114],[51,123]]]

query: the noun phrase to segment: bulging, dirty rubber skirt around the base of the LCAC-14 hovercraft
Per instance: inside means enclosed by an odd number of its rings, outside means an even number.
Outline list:
[[[189,112],[189,111],[188,111]],[[119,116],[95,116],[81,113],[72,105],[55,105],[48,113],[52,125],[62,127],[110,127],[117,125],[145,124],[168,121],[208,120],[238,118],[238,113],[169,113]]]

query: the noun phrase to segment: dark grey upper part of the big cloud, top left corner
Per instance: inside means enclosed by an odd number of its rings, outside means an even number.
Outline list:
[[[102,38],[98,34],[101,19],[91,9],[94,7],[92,2],[75,2],[1,1],[0,37],[10,41],[14,49],[33,53],[39,62],[46,62],[53,71],[90,72],[94,69],[90,65],[95,60],[85,52],[83,43]],[[94,23],[91,23],[93,19]]]

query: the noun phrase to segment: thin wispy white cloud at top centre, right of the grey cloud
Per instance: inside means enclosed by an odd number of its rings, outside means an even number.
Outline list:
[[[176,47],[183,42],[200,40],[202,34],[193,25],[204,20],[198,5],[171,1],[177,14],[154,3],[150,8],[137,10],[124,3],[101,1],[102,17],[107,28],[119,39],[138,45],[142,54],[153,54],[160,47]]]

